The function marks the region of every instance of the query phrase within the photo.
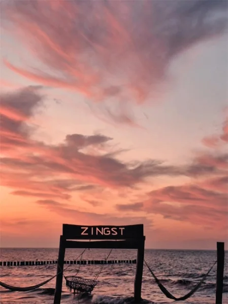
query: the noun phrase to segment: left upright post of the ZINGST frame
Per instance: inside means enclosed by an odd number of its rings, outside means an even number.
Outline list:
[[[61,302],[63,264],[64,264],[65,250],[66,250],[65,241],[66,240],[63,238],[63,236],[60,236],[54,304],[60,304],[60,302]]]

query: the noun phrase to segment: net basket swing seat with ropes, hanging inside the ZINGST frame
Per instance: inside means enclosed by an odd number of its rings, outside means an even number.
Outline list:
[[[82,255],[85,252],[85,250],[79,255],[79,256],[81,256],[80,265],[81,265]],[[110,252],[109,252],[109,254],[108,254],[108,256],[106,257],[105,260],[107,260],[109,258],[111,252],[112,252],[112,249],[110,250]],[[90,294],[93,291],[93,288],[97,285],[96,281],[97,281],[97,278],[99,277],[99,275],[101,274],[101,272],[104,268],[104,264],[102,265],[100,271],[95,275],[93,280],[84,279],[82,277],[77,276],[77,274],[79,272],[79,269],[80,269],[80,265],[79,265],[78,271],[77,271],[75,276],[67,276],[66,277],[66,276],[63,275],[65,280],[66,280],[66,286],[68,287],[68,290],[70,290],[71,292],[73,291],[74,294],[75,293]]]

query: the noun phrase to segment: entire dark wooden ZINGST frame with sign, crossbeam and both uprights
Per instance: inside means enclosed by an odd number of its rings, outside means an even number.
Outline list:
[[[143,224],[127,226],[82,226],[63,224],[62,235],[60,236],[59,241],[54,304],[60,304],[61,302],[63,265],[66,248],[137,249],[134,298],[136,303],[140,303],[144,245],[145,236],[143,235]]]

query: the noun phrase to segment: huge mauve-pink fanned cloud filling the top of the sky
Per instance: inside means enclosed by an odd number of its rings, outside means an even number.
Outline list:
[[[1,13],[3,27],[51,72],[5,64],[36,83],[94,102],[151,99],[173,58],[227,28],[226,1],[54,3],[11,1]],[[109,120],[136,125],[121,112],[105,110]]]

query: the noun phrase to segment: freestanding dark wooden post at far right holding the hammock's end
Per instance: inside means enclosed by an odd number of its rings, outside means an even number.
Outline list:
[[[222,304],[224,255],[224,243],[217,242],[216,304]]]

